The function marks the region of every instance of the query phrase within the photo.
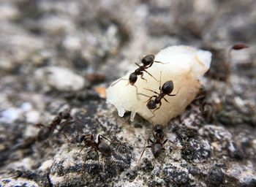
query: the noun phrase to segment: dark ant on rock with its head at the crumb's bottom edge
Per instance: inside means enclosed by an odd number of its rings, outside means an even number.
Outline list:
[[[162,150],[165,150],[165,148],[164,148],[165,143],[167,141],[171,142],[170,140],[167,140],[167,139],[164,140],[165,133],[164,133],[161,125],[154,126],[153,130],[152,130],[152,134],[156,141],[154,142],[153,140],[148,139],[148,146],[146,146],[143,149],[143,152],[140,155],[140,159],[142,158],[143,153],[146,150],[146,148],[151,148],[151,152],[153,153],[154,158],[157,159],[161,155]],[[151,142],[151,145],[149,145],[149,142]],[[171,143],[174,145],[173,142],[171,142]],[[176,145],[174,145],[174,146],[175,146],[175,148],[177,148]],[[138,163],[140,162],[140,159],[139,159]]]

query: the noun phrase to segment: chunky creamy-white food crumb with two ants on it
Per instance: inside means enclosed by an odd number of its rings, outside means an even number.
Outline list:
[[[117,108],[119,116],[122,117],[124,112],[131,111],[131,121],[134,120],[135,114],[138,113],[153,124],[165,125],[171,118],[181,114],[187,105],[195,99],[200,89],[199,78],[210,67],[211,53],[206,50],[197,50],[195,47],[172,46],[157,53],[155,61],[161,61],[165,64],[154,63],[153,66],[146,70],[157,80],[160,80],[162,73],[161,87],[168,80],[172,80],[174,88],[171,94],[177,92],[178,94],[176,96],[165,96],[168,102],[162,99],[162,106],[153,115],[151,110],[146,107],[148,97],[137,95],[135,86],[127,85],[129,75],[132,73],[128,72],[127,75],[121,77],[127,80],[121,80],[114,85],[110,85],[107,89],[107,103],[113,104]],[[138,80],[135,83],[138,87],[138,93],[143,93],[147,96],[156,95],[144,88],[149,88],[159,93],[159,82],[146,72],[144,72],[143,77],[146,78],[147,82],[138,76]]]

